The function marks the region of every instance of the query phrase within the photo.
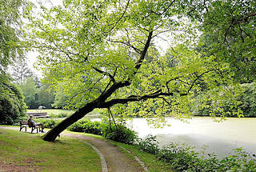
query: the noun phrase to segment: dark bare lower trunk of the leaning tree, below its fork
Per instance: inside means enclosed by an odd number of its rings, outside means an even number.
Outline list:
[[[64,119],[57,126],[54,126],[53,129],[48,131],[44,135],[43,140],[53,142],[55,138],[57,138],[58,135],[62,133],[63,130],[66,130],[68,126],[72,125],[74,122],[77,122],[79,119],[83,118],[86,114],[94,110],[96,107],[97,107],[96,102],[87,103],[86,106],[83,106],[81,109],[77,110],[70,117]]]

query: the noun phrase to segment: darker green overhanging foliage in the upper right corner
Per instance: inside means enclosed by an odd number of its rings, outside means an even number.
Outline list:
[[[218,0],[206,2],[202,14],[203,50],[229,62],[234,78],[251,82],[256,74],[256,2]]]

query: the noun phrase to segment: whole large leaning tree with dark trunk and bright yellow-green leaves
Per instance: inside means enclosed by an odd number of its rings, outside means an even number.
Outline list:
[[[229,64],[195,50],[204,1],[65,0],[40,11],[28,17],[30,46],[41,54],[46,82],[62,86],[77,108],[46,141],[96,108],[182,118],[202,90],[212,92],[202,102],[214,101],[218,112],[236,94]]]

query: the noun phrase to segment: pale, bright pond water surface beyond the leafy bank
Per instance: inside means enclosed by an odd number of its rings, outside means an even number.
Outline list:
[[[156,135],[161,146],[170,142],[186,143],[221,157],[238,147],[256,154],[256,118],[227,118],[224,122],[214,122],[212,118],[194,117],[188,120],[189,123],[174,118],[167,118],[167,121],[171,126],[160,129],[148,126],[144,118],[134,118],[128,124],[141,138],[147,134]]]

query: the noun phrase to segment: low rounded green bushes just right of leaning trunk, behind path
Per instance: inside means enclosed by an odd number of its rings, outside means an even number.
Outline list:
[[[69,130],[98,134],[104,138],[126,144],[134,144],[137,139],[134,130],[130,130],[120,123],[115,126],[113,122],[110,126],[108,122],[91,122],[90,119],[83,119],[72,124]]]

